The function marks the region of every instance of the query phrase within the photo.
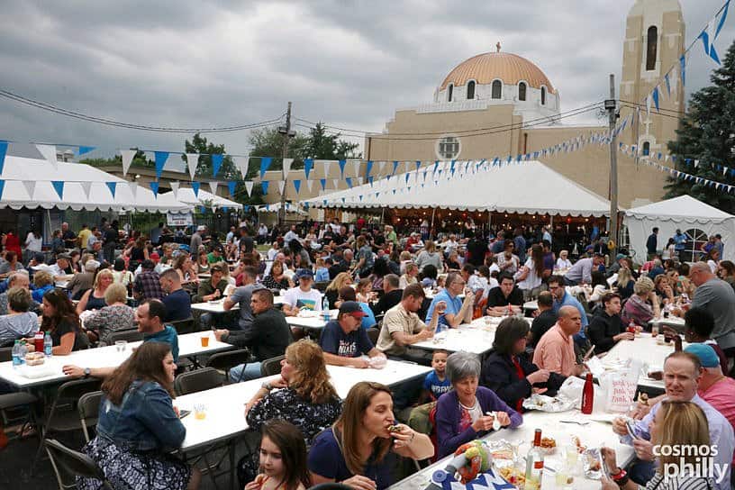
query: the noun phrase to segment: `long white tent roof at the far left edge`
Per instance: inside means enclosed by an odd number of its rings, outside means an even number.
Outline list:
[[[0,207],[21,209],[58,208],[75,211],[188,211],[191,206],[175,200],[159,202],[150,189],[134,186],[114,177],[99,168],[81,163],[58,162],[54,167],[45,159],[5,157],[5,166],[0,179],[5,180]],[[63,182],[63,197],[54,189],[52,182]],[[108,183],[114,183],[115,194]],[[89,192],[86,192],[88,186]]]

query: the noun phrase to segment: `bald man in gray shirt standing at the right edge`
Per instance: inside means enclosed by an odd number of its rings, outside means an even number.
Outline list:
[[[712,274],[705,262],[696,262],[689,268],[689,279],[697,286],[691,307],[712,313],[712,339],[717,340],[727,358],[735,358],[735,291]]]

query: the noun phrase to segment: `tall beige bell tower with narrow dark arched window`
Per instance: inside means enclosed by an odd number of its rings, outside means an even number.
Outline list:
[[[619,97],[642,104],[640,119],[636,117],[633,127],[629,123],[621,135],[622,142],[638,145],[640,155],[667,152],[667,142],[676,139],[676,117],[684,112],[685,102],[679,66],[684,42],[685,24],[678,0],[635,1],[626,19]],[[661,111],[656,111],[651,100],[648,113],[646,97],[656,86]],[[621,120],[631,113],[636,110],[623,107]]]

